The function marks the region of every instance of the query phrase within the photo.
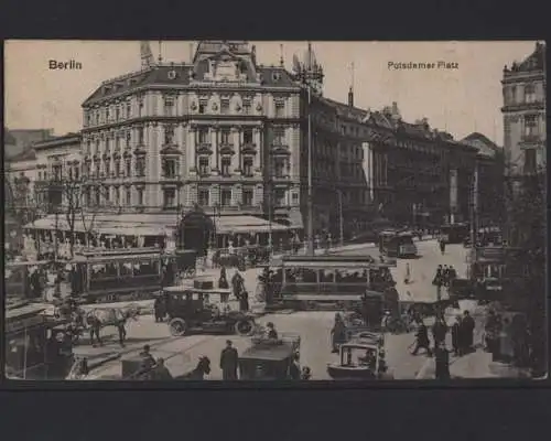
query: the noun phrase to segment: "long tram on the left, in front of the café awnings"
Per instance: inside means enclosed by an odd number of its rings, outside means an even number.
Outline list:
[[[159,248],[86,250],[72,262],[72,291],[90,303],[149,300],[182,272],[195,270],[195,251],[185,256]]]

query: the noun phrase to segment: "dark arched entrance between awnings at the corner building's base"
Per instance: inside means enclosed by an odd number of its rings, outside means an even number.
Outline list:
[[[196,207],[184,214],[176,233],[176,249],[193,249],[198,257],[205,257],[215,226],[208,215]]]

